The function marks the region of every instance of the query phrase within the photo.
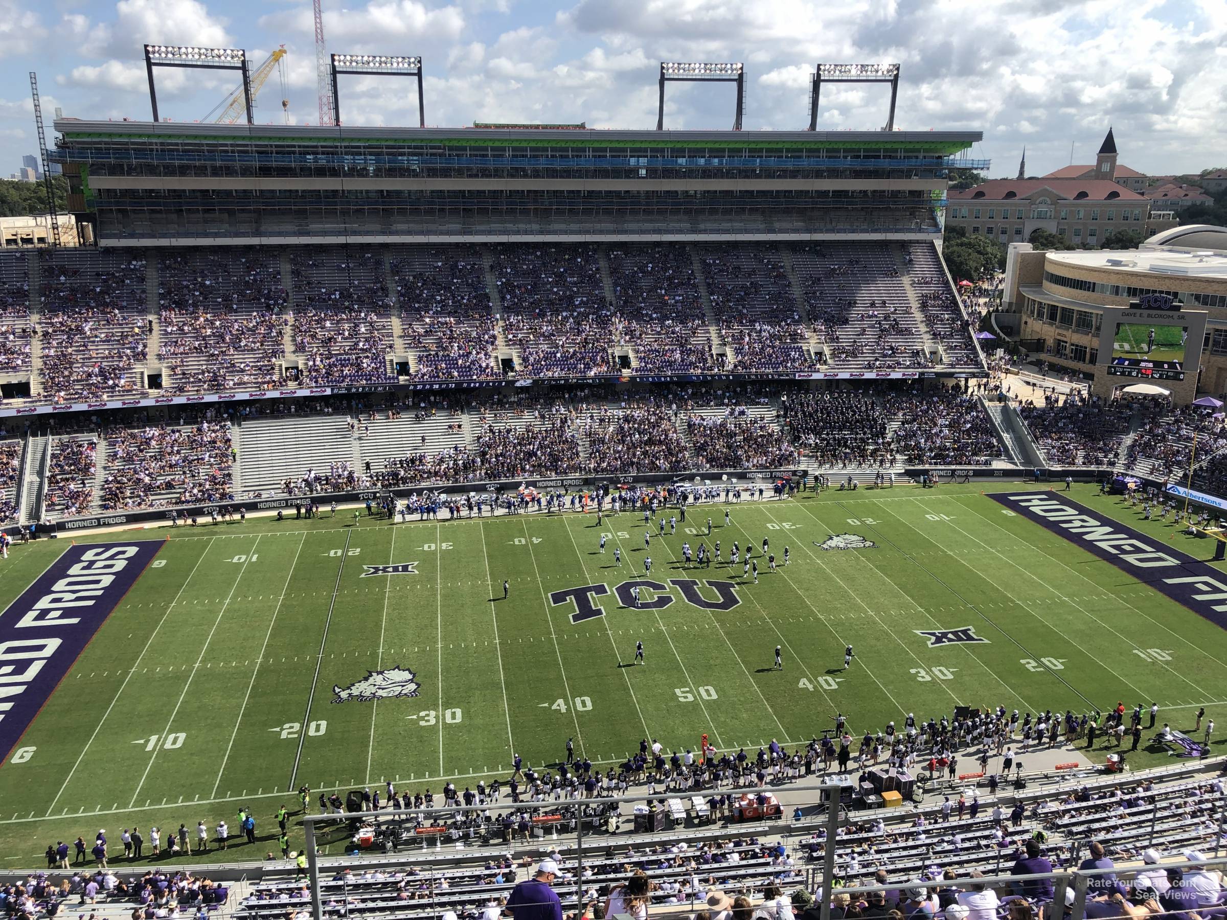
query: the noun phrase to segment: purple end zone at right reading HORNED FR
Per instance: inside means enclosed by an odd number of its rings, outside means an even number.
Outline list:
[[[1096,514],[1060,492],[989,492],[988,497],[1227,629],[1227,574],[1214,565]]]

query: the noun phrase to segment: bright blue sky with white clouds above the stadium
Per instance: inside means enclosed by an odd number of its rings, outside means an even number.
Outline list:
[[[324,0],[329,50],[421,54],[427,123],[587,121],[652,128],[660,60],[741,60],[747,129],[807,121],[822,61],[899,61],[896,124],[973,129],[994,175],[1092,162],[1115,128],[1147,173],[1227,167],[1227,0]],[[288,50],[290,117],[314,121],[312,7],[302,0],[0,0],[0,175],[37,148],[27,74],[44,110],[150,117],[142,42]],[[201,119],[231,90],[161,71],[163,115]],[[348,77],[347,124],[413,124],[409,81]],[[887,90],[823,91],[820,128],[885,120]],[[256,119],[280,121],[276,79]],[[666,125],[725,128],[731,86],[671,85]]]

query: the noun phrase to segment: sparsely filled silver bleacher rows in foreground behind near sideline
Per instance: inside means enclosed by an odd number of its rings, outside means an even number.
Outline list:
[[[836,876],[843,886],[871,883],[875,873],[881,873],[876,877],[886,884],[914,886],[919,878],[935,887],[966,887],[975,872],[1009,873],[1023,844],[1043,838],[1055,868],[1077,867],[1091,839],[1101,841],[1121,868],[1151,848],[1161,857],[1177,859],[1190,850],[1210,851],[1221,833],[1216,818],[1225,803],[1222,778],[1212,775],[1221,767],[1182,764],[1150,772],[1150,779],[1083,775],[1039,791],[978,802],[974,818],[942,821],[941,795],[928,796],[919,807],[843,812],[836,838]],[[971,790],[964,791],[971,796]],[[551,808],[566,811],[568,805],[564,801]],[[1152,827],[1156,808],[1160,818]],[[585,827],[589,819],[584,818]],[[825,826],[822,815],[771,826],[666,823],[670,829],[652,834],[637,833],[639,828],[629,832],[625,822],[614,832],[616,822],[591,818],[580,861],[575,838],[566,833],[569,829],[573,834],[574,818],[566,815],[561,835],[534,833],[524,839],[518,833],[497,833],[499,819],[487,816],[483,821],[494,833],[450,835],[445,848],[409,828],[459,826],[459,813],[440,807],[416,821],[401,821],[389,812],[374,824],[361,822],[373,829],[377,840],[385,841],[382,853],[379,845],[371,850],[355,845],[355,856],[321,862],[325,915],[476,918],[487,909],[497,914],[514,884],[531,877],[544,857],[560,867],[553,888],[564,905],[577,898],[604,903],[612,886],[643,872],[652,908],[702,909],[713,891],[752,900],[780,891],[788,895],[798,888],[815,892],[810,866],[822,862],[827,844],[825,832],[809,829]],[[510,826],[520,827],[518,821],[528,818],[513,816]],[[310,891],[302,881],[270,875],[250,887],[239,913],[280,918],[287,910],[308,909],[309,899]],[[1005,908],[999,915],[1005,916]]]

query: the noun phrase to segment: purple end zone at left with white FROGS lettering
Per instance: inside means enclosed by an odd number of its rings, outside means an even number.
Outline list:
[[[70,546],[0,613],[0,762],[162,543]]]

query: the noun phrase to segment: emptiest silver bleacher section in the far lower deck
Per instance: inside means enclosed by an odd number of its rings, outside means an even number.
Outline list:
[[[243,423],[240,476],[249,492],[280,491],[283,480],[313,470],[326,475],[334,462],[352,464],[345,416],[275,416]]]

